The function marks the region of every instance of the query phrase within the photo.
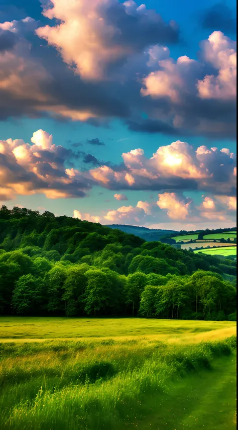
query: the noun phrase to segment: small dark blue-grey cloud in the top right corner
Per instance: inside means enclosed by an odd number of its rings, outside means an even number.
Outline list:
[[[200,18],[201,26],[212,31],[222,31],[228,34],[236,33],[236,19],[233,11],[225,2],[216,3],[207,9]]]

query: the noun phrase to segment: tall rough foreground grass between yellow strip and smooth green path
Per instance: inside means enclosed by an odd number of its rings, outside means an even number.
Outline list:
[[[176,347],[148,339],[2,343],[0,428],[184,428],[186,419],[188,424],[191,421],[192,406],[186,390],[199,390],[200,372],[221,383],[221,370],[229,357],[233,360],[233,348],[234,336]],[[220,368],[215,373],[212,363],[217,358]],[[230,387],[228,391],[235,398],[235,391]],[[183,393],[182,400],[176,392]],[[196,415],[200,409],[203,413],[201,397],[193,398]],[[216,402],[214,407],[219,415]],[[227,413],[233,416],[234,410],[229,408]],[[202,425],[190,428],[210,428],[205,422]]]

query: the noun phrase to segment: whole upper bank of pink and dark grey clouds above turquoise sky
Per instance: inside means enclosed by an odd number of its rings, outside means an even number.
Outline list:
[[[45,15],[51,27],[29,17],[0,24],[11,33],[0,48],[0,120],[119,118],[145,133],[235,136],[236,48],[223,33],[201,43],[199,61],[174,60],[162,44],[178,40],[176,25],[134,2],[54,0]]]

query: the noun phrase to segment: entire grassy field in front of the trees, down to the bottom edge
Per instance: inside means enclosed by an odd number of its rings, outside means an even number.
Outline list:
[[[235,428],[235,322],[0,320],[1,429]]]

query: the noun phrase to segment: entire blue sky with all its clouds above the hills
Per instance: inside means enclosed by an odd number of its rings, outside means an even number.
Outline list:
[[[235,226],[236,10],[0,0],[0,205]]]

